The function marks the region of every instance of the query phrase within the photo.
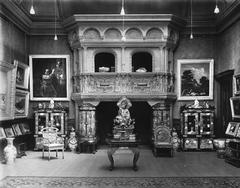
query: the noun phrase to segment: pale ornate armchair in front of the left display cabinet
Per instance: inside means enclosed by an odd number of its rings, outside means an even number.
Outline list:
[[[62,150],[62,158],[64,159],[64,139],[58,136],[58,129],[55,127],[45,127],[41,130],[42,141],[42,158],[44,158],[44,150],[48,151],[48,160],[50,160],[50,151],[56,151],[58,157],[58,150]]]

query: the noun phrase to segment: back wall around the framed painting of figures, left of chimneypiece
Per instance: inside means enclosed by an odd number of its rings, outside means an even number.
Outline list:
[[[70,78],[72,77],[72,51],[68,44],[67,36],[58,36],[58,40],[53,40],[53,35],[48,36],[31,36],[29,39],[29,55],[70,55]],[[70,79],[70,94],[72,93],[72,83]],[[30,102],[30,109],[35,107],[38,102]],[[69,108],[69,118],[74,118],[74,105],[72,101],[62,102],[63,106]],[[33,116],[33,111],[30,110],[30,116]]]

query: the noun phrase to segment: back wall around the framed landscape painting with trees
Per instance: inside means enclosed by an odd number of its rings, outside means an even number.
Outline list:
[[[178,59],[215,59],[215,37],[214,36],[194,36],[192,40],[188,35],[181,35],[179,44],[174,51],[174,73],[177,77]],[[216,64],[216,62],[215,62]],[[175,92],[178,86],[175,81]],[[193,103],[193,101],[176,101],[173,108],[173,118],[180,118],[180,107],[184,104]],[[210,103],[213,103],[211,101]]]

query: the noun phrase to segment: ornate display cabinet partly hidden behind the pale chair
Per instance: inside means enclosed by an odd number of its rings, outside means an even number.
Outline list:
[[[65,110],[41,109],[34,111],[35,117],[35,150],[42,148],[41,130],[46,126],[53,126],[58,129],[59,135],[65,135],[67,127],[67,112]]]

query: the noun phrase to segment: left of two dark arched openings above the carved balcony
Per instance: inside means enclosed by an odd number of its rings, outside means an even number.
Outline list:
[[[115,56],[107,52],[96,54],[95,72],[115,72]]]

